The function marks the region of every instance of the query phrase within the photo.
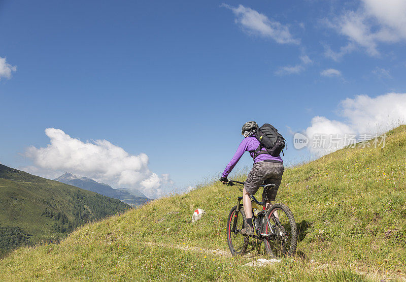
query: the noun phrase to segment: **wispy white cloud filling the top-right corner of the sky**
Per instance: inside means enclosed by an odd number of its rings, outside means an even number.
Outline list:
[[[358,10],[346,11],[328,22],[350,40],[350,45],[338,53],[328,50],[326,55],[342,56],[353,50],[352,43],[364,48],[369,55],[377,56],[379,43],[406,40],[406,1],[362,0]]]

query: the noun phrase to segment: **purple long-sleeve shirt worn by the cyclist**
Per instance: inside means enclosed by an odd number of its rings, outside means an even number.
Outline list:
[[[238,146],[238,149],[235,152],[234,156],[232,157],[231,161],[225,167],[225,170],[223,172],[223,177],[227,177],[228,174],[230,174],[231,170],[238,163],[238,161],[240,161],[240,159],[245,151],[253,151],[256,148],[258,148],[258,146],[259,146],[259,141],[255,137],[249,136],[249,137],[244,138],[244,140],[241,142],[240,146]],[[265,148],[262,148],[262,150],[265,150]],[[251,158],[254,158],[254,152],[251,152],[250,155],[251,155]],[[258,162],[265,161],[265,160],[272,160],[272,161],[277,161],[277,162],[283,163],[281,156],[272,156],[270,154],[258,155],[255,158],[254,163],[258,163]]]

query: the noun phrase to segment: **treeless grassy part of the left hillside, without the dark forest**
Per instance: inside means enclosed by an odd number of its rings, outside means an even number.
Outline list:
[[[0,226],[22,228],[32,235],[31,242],[63,236],[64,233],[54,232],[55,221],[41,214],[48,208],[54,212],[63,211],[73,220],[72,196],[78,190],[89,197],[95,195],[94,192],[0,165]]]

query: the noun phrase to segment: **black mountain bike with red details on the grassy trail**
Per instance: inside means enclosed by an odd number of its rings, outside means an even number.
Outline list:
[[[229,186],[236,185],[243,192],[244,182],[229,180]],[[241,230],[247,225],[243,197],[237,198],[227,221],[227,243],[233,256],[243,255],[247,250],[249,237],[263,240],[266,253],[270,257],[291,257],[295,254],[297,245],[297,228],[290,209],[282,204],[275,203],[266,209],[266,201],[275,184],[262,184],[262,202],[251,195],[252,223],[254,235],[243,236]]]

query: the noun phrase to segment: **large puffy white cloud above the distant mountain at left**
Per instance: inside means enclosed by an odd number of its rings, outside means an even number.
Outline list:
[[[167,193],[163,184],[173,184],[168,174],[159,177],[148,169],[145,153],[130,155],[107,140],[82,142],[60,129],[48,128],[45,134],[50,144],[45,148],[30,146],[25,152],[35,165],[29,169],[32,172],[71,172],[115,187],[139,189],[153,198]]]

